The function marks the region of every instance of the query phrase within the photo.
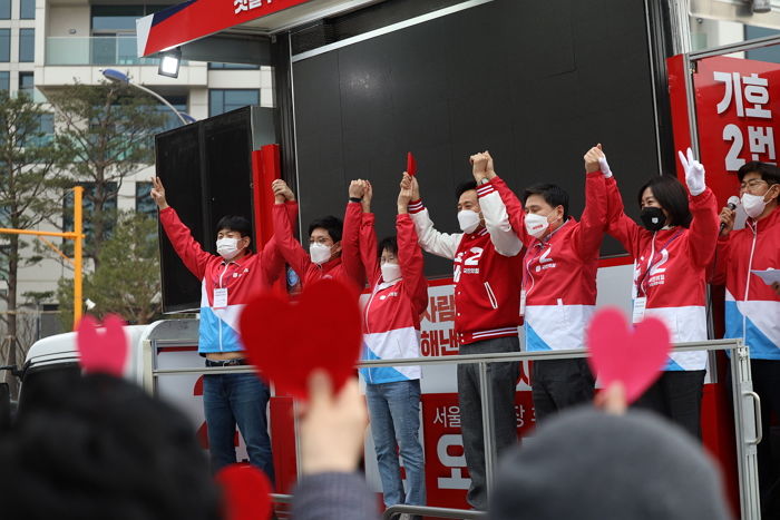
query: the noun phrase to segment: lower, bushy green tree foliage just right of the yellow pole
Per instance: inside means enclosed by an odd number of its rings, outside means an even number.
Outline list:
[[[111,237],[100,248],[94,273],[84,278],[84,297],[95,303],[89,314],[118,314],[130,324],[162,316],[157,222],[139,213],[123,213]],[[72,279],[58,284],[60,320],[72,322]]]

